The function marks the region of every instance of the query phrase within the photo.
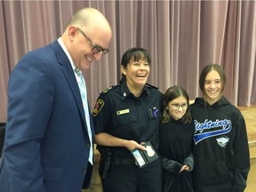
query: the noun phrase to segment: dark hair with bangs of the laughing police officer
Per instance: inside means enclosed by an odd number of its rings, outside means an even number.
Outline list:
[[[134,47],[134,48],[129,49],[126,52],[124,52],[122,60],[121,60],[121,66],[124,66],[124,68],[127,68],[128,63],[130,62],[130,60],[132,58],[134,61],[147,60],[149,66],[151,64],[150,53],[143,48]],[[120,79],[120,84],[122,84],[125,80],[126,80],[126,77],[124,76],[124,74],[122,74],[121,79]]]

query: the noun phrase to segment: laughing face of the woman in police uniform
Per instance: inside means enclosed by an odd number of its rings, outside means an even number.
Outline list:
[[[126,76],[126,83],[130,91],[131,89],[142,90],[147,83],[150,72],[148,60],[134,60],[132,57],[127,67],[124,68],[124,65],[122,65],[121,69],[124,76]]]

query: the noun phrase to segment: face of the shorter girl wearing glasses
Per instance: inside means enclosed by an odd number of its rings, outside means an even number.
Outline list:
[[[184,96],[180,96],[168,102],[166,109],[168,110],[169,115],[172,116],[173,119],[179,120],[187,112],[188,100]]]

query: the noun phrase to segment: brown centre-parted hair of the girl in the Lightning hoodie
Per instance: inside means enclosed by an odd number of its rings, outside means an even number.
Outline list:
[[[227,83],[227,76],[223,70],[223,68],[220,67],[219,64],[209,64],[205,66],[201,72],[201,75],[199,77],[199,86],[203,94],[205,95],[204,91],[204,84],[205,84],[205,78],[212,70],[215,70],[220,75],[220,81],[221,81],[221,93],[224,91],[224,88]]]

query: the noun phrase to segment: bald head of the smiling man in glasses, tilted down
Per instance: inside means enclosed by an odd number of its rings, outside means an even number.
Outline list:
[[[107,52],[111,37],[112,29],[105,16],[94,8],[84,8],[71,16],[61,40],[76,68],[83,70]]]

